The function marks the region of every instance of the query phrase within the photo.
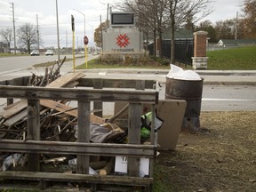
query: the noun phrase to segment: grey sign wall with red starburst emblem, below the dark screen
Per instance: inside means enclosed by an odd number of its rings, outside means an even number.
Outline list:
[[[137,28],[108,28],[103,34],[103,53],[140,53],[142,44]]]

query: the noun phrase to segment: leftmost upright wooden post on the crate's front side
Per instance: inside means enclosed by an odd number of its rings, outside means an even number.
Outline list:
[[[40,140],[39,100],[28,100],[28,140]],[[28,154],[28,171],[39,172],[38,154]]]

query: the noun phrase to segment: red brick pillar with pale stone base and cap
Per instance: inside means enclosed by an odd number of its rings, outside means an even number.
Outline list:
[[[192,65],[194,69],[207,68],[208,57],[206,57],[207,32],[197,31],[194,33],[194,57]]]

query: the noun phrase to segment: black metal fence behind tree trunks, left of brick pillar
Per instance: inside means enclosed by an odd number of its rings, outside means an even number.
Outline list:
[[[148,45],[149,55],[154,55],[154,43]],[[171,59],[171,40],[162,41],[162,54],[164,58]],[[175,60],[192,65],[194,56],[194,39],[175,40]]]

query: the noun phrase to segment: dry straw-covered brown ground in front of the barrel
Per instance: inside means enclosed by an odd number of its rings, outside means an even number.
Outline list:
[[[154,191],[256,191],[256,111],[203,112],[202,132],[160,151]]]

